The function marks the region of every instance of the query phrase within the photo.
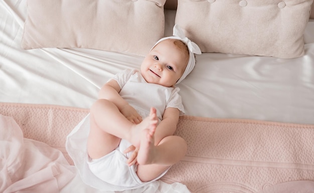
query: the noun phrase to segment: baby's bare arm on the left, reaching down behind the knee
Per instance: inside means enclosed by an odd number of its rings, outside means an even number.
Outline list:
[[[135,124],[140,123],[142,121],[141,116],[120,96],[120,91],[118,82],[111,79],[100,89],[98,99],[111,101],[129,121]]]

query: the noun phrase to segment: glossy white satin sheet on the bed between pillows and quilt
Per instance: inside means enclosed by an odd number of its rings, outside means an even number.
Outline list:
[[[94,49],[24,50],[26,16],[27,1],[0,1],[2,103],[88,109],[107,80],[126,68],[138,69],[143,60],[142,56]],[[165,10],[165,36],[172,35],[175,17],[175,10]],[[186,116],[314,124],[313,34],[314,20],[310,19],[304,32],[305,55],[294,59],[197,55],[196,67],[178,85]],[[70,189],[99,192],[82,185],[78,176],[63,192]]]

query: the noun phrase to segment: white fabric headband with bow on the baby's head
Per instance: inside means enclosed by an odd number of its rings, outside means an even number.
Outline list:
[[[194,54],[202,54],[201,49],[198,47],[197,44],[195,44],[194,42],[192,42],[191,40],[189,40],[189,38],[185,37],[182,29],[176,24],[174,27],[174,36],[170,36],[170,37],[165,37],[160,39],[158,42],[156,42],[156,44],[151,48],[151,50],[157,45],[159,44],[161,41],[167,40],[167,39],[176,39],[176,40],[181,40],[182,42],[184,42],[188,49],[189,49],[189,62],[187,65],[186,70],[184,71],[183,75],[181,76],[181,78],[178,80],[178,83],[180,83],[183,79],[185,79],[188,74],[190,74],[190,72],[193,70],[194,66],[195,66],[195,57]]]

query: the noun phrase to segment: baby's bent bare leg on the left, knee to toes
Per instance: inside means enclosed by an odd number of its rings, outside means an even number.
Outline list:
[[[111,101],[99,99],[90,109],[90,121],[87,151],[91,158],[96,159],[114,150],[121,138],[138,146],[140,131],[158,120],[147,117],[140,124],[133,124]]]

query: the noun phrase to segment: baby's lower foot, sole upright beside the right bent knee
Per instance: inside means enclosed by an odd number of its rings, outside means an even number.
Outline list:
[[[158,118],[155,113],[155,109],[150,110],[149,117],[152,120],[157,120]],[[153,161],[155,155],[154,149],[154,134],[157,124],[150,124],[150,127],[141,131],[140,145],[137,154],[137,162],[139,164],[150,164]]]

